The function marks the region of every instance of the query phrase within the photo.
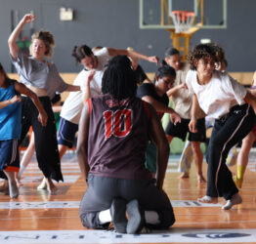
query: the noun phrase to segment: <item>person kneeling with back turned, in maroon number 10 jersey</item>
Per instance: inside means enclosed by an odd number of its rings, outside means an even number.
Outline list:
[[[136,88],[131,62],[117,56],[105,71],[104,95],[83,108],[77,158],[88,183],[80,204],[86,227],[112,222],[117,232],[139,233],[144,226],[165,229],[175,222],[162,190],[169,145],[156,111],[136,98]],[[144,164],[149,137],[158,149],[156,183]]]

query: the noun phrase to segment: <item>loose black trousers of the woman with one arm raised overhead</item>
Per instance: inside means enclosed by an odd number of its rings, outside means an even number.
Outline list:
[[[26,136],[29,127],[32,126],[39,169],[46,178],[54,179],[57,182],[64,181],[52,104],[49,97],[40,97],[39,100],[48,115],[47,125],[43,127],[38,121],[38,111],[34,103],[29,98],[22,97],[21,142]]]

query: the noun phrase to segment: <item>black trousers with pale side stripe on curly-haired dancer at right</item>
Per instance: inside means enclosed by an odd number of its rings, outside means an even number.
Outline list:
[[[206,157],[206,195],[223,196],[229,200],[238,192],[226,158],[230,149],[251,131],[254,124],[255,114],[247,103],[235,105],[227,115],[215,121]]]

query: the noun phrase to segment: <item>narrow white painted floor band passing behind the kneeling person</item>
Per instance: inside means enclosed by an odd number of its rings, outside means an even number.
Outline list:
[[[206,204],[197,201],[171,201],[174,208],[220,207],[220,204]],[[0,209],[78,209],[80,201],[50,202],[0,202]]]

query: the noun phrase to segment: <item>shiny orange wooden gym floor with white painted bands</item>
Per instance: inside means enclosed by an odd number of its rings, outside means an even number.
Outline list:
[[[164,188],[173,204],[176,223],[167,231],[141,235],[82,226],[78,211],[86,186],[73,152],[64,155],[64,183],[58,184],[56,195],[36,189],[41,174],[33,160],[24,172],[19,199],[10,201],[9,196],[0,193],[0,243],[256,243],[255,159],[250,157],[240,190],[242,204],[224,211],[221,199],[216,205],[196,201],[205,194],[206,185],[196,182],[194,164],[191,178],[178,180],[178,157],[171,156]],[[204,163],[205,176],[206,167]]]

